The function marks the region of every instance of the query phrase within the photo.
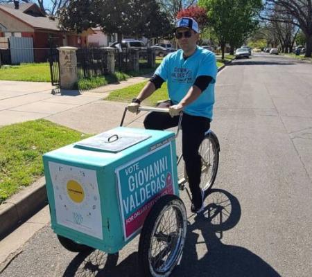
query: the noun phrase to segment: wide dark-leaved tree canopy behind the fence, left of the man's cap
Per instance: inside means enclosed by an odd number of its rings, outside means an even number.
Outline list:
[[[155,0],[69,0],[60,10],[60,27],[82,32],[101,26],[108,34],[122,36],[160,36],[171,30],[164,12]]]

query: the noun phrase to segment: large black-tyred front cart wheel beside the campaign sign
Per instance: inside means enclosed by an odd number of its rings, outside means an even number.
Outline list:
[[[182,257],[187,211],[176,195],[161,197],[150,210],[139,240],[143,276],[169,276]]]

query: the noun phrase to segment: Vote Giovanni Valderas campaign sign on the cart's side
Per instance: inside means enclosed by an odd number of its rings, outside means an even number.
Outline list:
[[[174,194],[171,143],[116,169],[125,240],[135,235],[153,204]]]

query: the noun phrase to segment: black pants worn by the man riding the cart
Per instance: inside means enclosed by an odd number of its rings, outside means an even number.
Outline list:
[[[162,102],[158,107],[168,107],[170,101]],[[164,130],[177,126],[179,116],[173,118],[166,113],[151,112],[144,120],[146,129]],[[190,116],[183,114],[182,117],[182,154],[189,177],[189,188],[191,190],[193,203],[200,203],[200,175],[201,175],[201,160],[198,150],[200,143],[205,137],[205,132],[210,128],[209,118],[202,116]]]

